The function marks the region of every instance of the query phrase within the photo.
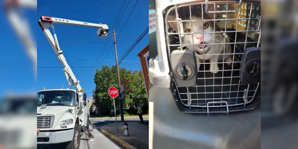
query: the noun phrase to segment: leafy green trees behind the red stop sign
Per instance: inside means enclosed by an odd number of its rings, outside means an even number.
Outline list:
[[[132,72],[123,67],[119,68],[119,73],[121,85],[124,87],[123,108],[132,108],[135,103],[148,105],[142,72],[138,70]],[[109,97],[107,90],[110,87],[119,89],[116,67],[105,65],[101,70],[96,70],[94,83],[96,84],[93,93],[94,103],[103,111],[113,105],[113,99]],[[115,104],[116,108],[119,107],[119,96],[115,98]]]

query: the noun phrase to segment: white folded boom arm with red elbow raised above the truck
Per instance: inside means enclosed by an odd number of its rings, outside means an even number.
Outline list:
[[[75,89],[77,91],[82,91],[82,87],[80,85],[80,81],[76,79],[74,73],[72,72],[70,66],[68,65],[62,49],[60,49],[57,35],[55,34],[54,26],[53,24],[64,24],[64,25],[76,25],[76,26],[84,26],[84,27],[96,27],[97,29],[97,35],[101,38],[105,38],[108,35],[108,26],[106,24],[95,24],[95,23],[88,23],[88,22],[82,22],[82,21],[74,21],[69,19],[63,19],[63,18],[53,18],[53,17],[47,17],[47,16],[41,16],[40,20],[38,21],[39,26],[41,27],[41,30],[44,32],[44,35],[47,37],[47,40],[49,41],[50,45],[52,46],[55,54],[57,55],[58,60],[62,63],[64,69],[64,74],[66,76],[68,86],[71,89],[71,83],[70,78],[72,79],[72,83],[75,86]],[[54,36],[48,29],[48,27],[51,27],[53,29]]]

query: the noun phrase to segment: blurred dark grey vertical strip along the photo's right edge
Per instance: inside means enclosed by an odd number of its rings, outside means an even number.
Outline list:
[[[262,0],[261,146],[297,148],[297,0]]]

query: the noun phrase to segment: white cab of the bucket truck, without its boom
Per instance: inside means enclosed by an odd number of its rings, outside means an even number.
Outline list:
[[[80,98],[81,97],[81,98]],[[73,89],[42,90],[37,93],[37,144],[57,144],[73,141],[79,144],[89,128],[89,103],[84,91]],[[79,126],[79,130],[76,128]],[[75,139],[75,140],[74,140]]]

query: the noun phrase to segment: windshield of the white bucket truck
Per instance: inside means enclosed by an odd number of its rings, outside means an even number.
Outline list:
[[[42,104],[70,106],[75,101],[74,91],[40,91],[37,94],[37,106]]]

